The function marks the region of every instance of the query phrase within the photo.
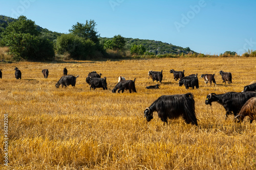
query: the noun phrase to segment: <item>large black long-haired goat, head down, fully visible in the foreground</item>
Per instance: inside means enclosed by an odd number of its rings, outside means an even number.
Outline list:
[[[192,93],[160,96],[150,107],[145,109],[144,117],[147,122],[153,119],[154,111],[166,124],[168,124],[167,118],[175,119],[182,116],[187,124],[198,126]]]

